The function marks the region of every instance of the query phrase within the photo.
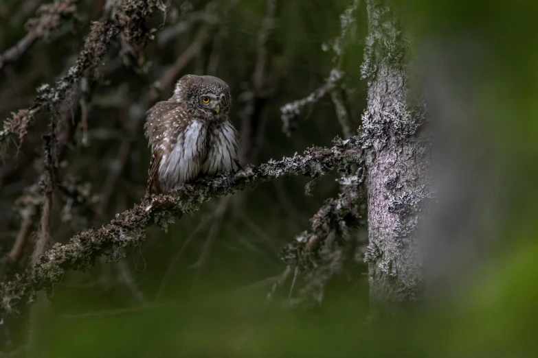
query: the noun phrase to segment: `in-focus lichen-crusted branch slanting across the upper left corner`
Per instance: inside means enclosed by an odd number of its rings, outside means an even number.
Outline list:
[[[6,149],[10,136],[17,136],[19,142],[22,141],[34,117],[42,110],[52,108],[63,101],[85,73],[88,73],[86,77],[92,79],[118,34],[124,34],[126,40],[135,47],[144,45],[150,37],[145,19],[153,12],[154,7],[153,1],[126,0],[122,2],[122,8],[112,21],[94,22],[76,63],[69,68],[67,74],[56,82],[55,86],[48,84],[40,86],[38,88],[40,94],[30,108],[14,112],[10,119],[4,121],[3,130],[0,130],[0,149]]]

